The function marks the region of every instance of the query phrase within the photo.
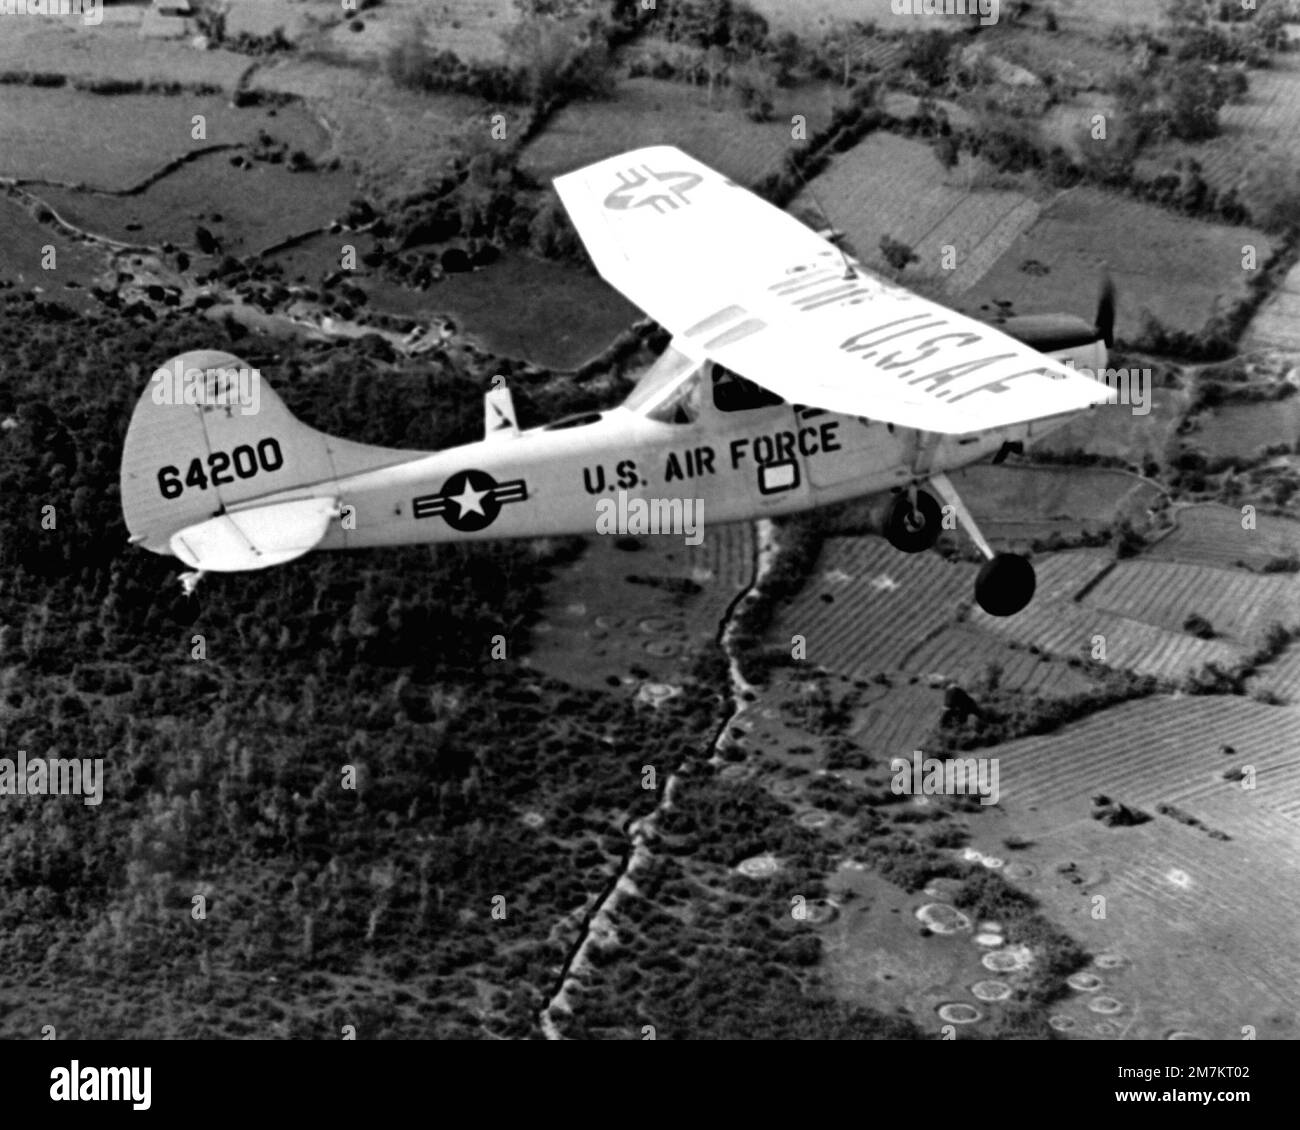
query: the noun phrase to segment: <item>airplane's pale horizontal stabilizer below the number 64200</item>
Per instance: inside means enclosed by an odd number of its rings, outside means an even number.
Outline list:
[[[222,514],[172,534],[172,553],[205,572],[268,568],[315,549],[337,512],[335,498],[299,498]]]

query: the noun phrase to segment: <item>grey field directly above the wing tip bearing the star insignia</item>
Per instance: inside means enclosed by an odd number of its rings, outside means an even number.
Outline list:
[[[829,121],[836,98],[826,86],[776,91],[774,120],[753,122],[729,90],[718,90],[710,105],[705,87],[632,78],[612,99],[566,105],[524,148],[520,168],[545,182],[624,150],[671,144],[751,185],[792,147],[790,116],[805,114],[811,137]]]

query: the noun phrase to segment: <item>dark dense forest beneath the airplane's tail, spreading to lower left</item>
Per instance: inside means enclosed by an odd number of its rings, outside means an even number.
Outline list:
[[[521,666],[546,577],[580,540],[309,555],[186,598],[174,560],[127,545],[117,475],[148,374],[196,343],[261,368],[306,421],[396,446],[471,438],[499,369],[0,298],[0,756],[103,758],[107,779],[99,806],[4,797],[0,1031],[537,1035],[623,830],[655,804],[644,767],[662,787],[707,756],[722,653],[659,710]],[[524,382],[520,411],[602,395]],[[703,772],[693,839],[731,865],[734,836],[770,839],[784,809],[731,785],[719,800]],[[824,865],[824,848],[796,848]],[[577,1006],[575,1034],[914,1032],[822,992],[818,939],[776,921],[784,888],[750,892],[740,915],[731,901],[698,953],[642,904],[659,971],[628,965],[595,1013],[590,995]]]

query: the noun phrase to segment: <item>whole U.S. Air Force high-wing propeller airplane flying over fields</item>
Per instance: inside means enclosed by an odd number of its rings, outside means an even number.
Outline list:
[[[317,549],[594,533],[614,495],[702,499],[722,524],[892,493],[896,549],[931,547],[946,510],[985,558],[979,606],[1008,616],[1030,602],[1032,564],[994,553],[949,472],[1113,399],[1080,371],[1106,363],[1109,289],[1093,324],[989,325],[872,274],[671,146],[554,185],[599,274],[671,335],[621,404],[520,429],[494,380],[482,440],[407,451],[300,423],[260,373],[242,401],[237,356],[185,352],[153,374],[126,433],[131,544],[179,558],[192,593],[207,572]]]

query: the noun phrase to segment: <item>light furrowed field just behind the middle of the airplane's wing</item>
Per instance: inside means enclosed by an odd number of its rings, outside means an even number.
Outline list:
[[[968,187],[968,161],[945,173],[933,150],[918,140],[874,133],[814,178],[792,207],[826,209],[835,228],[864,264],[888,270],[880,238],[909,244],[920,261],[904,272],[941,280],[961,294],[1014,246],[1039,217],[1040,202],[1023,192]],[[945,247],[956,248],[956,267],[942,269]]]

